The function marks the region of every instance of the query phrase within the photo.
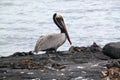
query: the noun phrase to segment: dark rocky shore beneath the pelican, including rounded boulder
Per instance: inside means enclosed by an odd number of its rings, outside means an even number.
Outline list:
[[[0,80],[120,80],[120,43],[0,57]],[[58,55],[57,55],[58,54]]]

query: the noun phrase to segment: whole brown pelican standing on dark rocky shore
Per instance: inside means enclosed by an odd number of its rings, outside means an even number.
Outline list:
[[[63,16],[59,13],[55,13],[53,15],[53,21],[59,27],[61,33],[41,36],[36,43],[34,52],[38,53],[38,51],[51,50],[56,51],[57,48],[66,41],[66,39],[68,39],[70,45],[72,44],[63,20]]]

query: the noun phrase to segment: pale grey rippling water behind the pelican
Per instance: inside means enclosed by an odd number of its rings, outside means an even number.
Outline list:
[[[34,49],[39,36],[59,33],[52,15],[64,15],[73,46],[120,41],[120,0],[0,0],[0,55]],[[66,43],[59,50],[67,50]]]

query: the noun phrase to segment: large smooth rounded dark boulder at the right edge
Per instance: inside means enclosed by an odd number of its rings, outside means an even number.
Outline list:
[[[120,42],[108,43],[103,47],[103,53],[111,58],[120,58]]]

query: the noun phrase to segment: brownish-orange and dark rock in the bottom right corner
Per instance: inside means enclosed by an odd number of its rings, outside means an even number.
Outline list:
[[[120,80],[120,60],[110,60],[106,64],[107,69],[103,70],[102,78],[108,80]]]

